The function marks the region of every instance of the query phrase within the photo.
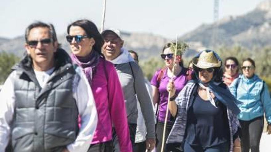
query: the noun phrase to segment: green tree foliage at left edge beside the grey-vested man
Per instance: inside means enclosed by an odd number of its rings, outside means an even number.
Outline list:
[[[2,84],[11,72],[12,66],[19,61],[13,53],[0,53],[0,84]]]

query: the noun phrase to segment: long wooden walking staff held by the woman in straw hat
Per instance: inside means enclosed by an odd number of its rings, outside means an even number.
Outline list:
[[[174,70],[176,67],[176,55],[177,55],[177,45],[178,45],[178,37],[176,35],[176,47],[175,47],[175,53],[174,53],[174,64],[173,64],[173,69],[172,69],[172,77],[171,77],[171,82],[173,82],[173,75],[174,75]],[[170,92],[168,93],[168,103],[170,99]],[[167,112],[166,112],[166,118],[165,118],[165,124],[164,124],[164,131],[163,131],[163,138],[162,138],[162,148],[161,148],[161,152],[164,151],[164,143],[165,143],[165,134],[166,134],[166,128],[167,128],[167,122],[168,122],[168,104],[167,104]]]

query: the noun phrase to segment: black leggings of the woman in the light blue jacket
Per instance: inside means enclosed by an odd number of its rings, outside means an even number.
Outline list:
[[[264,117],[257,117],[250,121],[239,120],[241,124],[241,149],[242,152],[259,152],[261,134],[264,127]]]

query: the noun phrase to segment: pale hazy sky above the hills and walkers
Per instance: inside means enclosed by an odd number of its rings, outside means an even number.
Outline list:
[[[262,0],[220,0],[219,18],[242,15]],[[213,21],[214,0],[107,0],[105,28],[147,32],[174,38]],[[1,0],[0,37],[24,34],[33,21],[51,22],[58,34],[77,19],[100,27],[103,0]]]

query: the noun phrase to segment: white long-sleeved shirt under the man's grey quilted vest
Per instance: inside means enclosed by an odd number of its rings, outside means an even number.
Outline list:
[[[35,71],[36,78],[41,87],[46,84],[53,70],[54,68],[45,72]],[[70,152],[84,152],[87,151],[90,146],[96,130],[98,117],[95,101],[87,78],[81,69],[76,72],[79,74],[81,79],[78,83],[74,83],[73,85],[73,97],[76,100],[82,122],[77,138],[73,143],[67,145],[67,149]],[[10,139],[10,125],[14,117],[14,108],[16,104],[14,84],[11,78],[15,76],[16,71],[13,71],[7,78],[0,92],[0,152],[5,152],[5,148]]]

